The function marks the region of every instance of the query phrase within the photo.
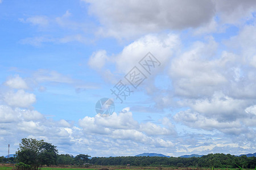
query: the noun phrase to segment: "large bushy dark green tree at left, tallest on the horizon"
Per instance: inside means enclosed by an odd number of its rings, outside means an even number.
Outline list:
[[[57,150],[56,146],[43,140],[23,138],[16,155],[19,162],[30,165],[30,169],[38,169],[44,164],[56,164]]]

